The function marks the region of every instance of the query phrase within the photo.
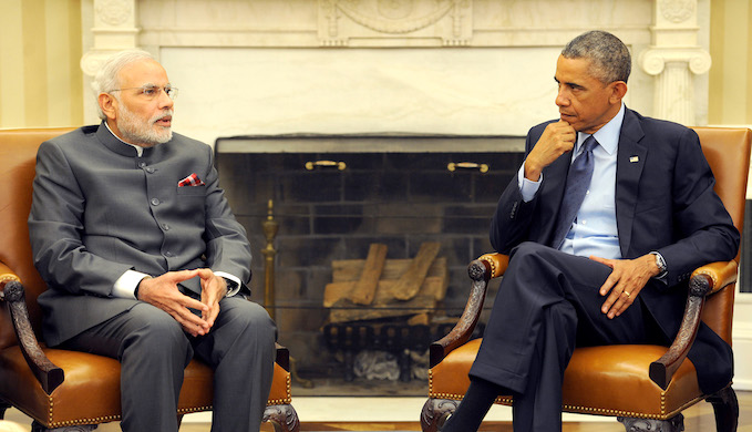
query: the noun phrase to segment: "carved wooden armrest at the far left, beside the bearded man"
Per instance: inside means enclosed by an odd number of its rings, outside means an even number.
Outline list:
[[[0,301],[8,304],[16,337],[29,369],[34,373],[42,389],[50,394],[63,382],[63,370],[54,366],[44,356],[44,351],[34,337],[34,330],[31,328],[23,285],[21,285],[19,277],[2,264],[0,264],[0,288],[2,288]]]

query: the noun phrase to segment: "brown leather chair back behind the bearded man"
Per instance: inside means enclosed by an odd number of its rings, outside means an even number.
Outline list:
[[[47,285],[34,268],[28,226],[37,150],[44,141],[69,131],[71,128],[0,131],[0,263],[21,278],[38,338],[41,337],[42,315],[37,297]],[[0,349],[17,343],[10,315],[7,308],[0,307]]]

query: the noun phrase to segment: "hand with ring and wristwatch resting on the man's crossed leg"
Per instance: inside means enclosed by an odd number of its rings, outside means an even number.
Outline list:
[[[606,259],[596,256],[590,256],[590,259],[611,268],[611,274],[599,289],[601,296],[608,295],[600,311],[609,319],[624,313],[648,280],[660,272],[656,258],[650,254],[635,259]]]

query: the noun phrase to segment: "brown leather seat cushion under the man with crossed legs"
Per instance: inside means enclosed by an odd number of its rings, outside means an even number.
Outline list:
[[[470,341],[430,370],[430,398],[462,399],[470,385],[467,372],[480,346],[481,339]],[[665,352],[666,347],[658,346],[576,349],[564,374],[564,411],[661,420],[678,414],[703,394],[689,359],[667,390],[650,380],[650,363]],[[496,403],[511,404],[512,398],[499,397]]]

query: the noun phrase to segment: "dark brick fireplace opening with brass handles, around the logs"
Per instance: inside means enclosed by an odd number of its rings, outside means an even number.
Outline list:
[[[426,344],[446,331],[444,325],[461,313],[466,300],[467,264],[491,250],[491,216],[522,163],[523,148],[524,138],[516,136],[217,140],[220,184],[254,248],[251,290],[259,302],[265,289],[262,224],[272,203],[271,217],[279,226],[274,239],[275,319],[280,343],[290,348],[301,377],[344,377],[347,359],[332,344],[323,294],[332,281],[332,261],[364,259],[372,244],[385,245],[388,260],[414,258],[425,243],[440,245],[446,295],[430,310],[436,321],[413,329],[411,338],[416,340],[418,332]]]

